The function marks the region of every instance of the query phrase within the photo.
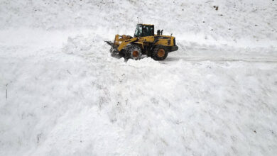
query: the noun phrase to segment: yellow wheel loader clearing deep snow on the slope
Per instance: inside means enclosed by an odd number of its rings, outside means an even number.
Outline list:
[[[137,24],[134,38],[130,35],[116,35],[114,43],[105,42],[112,46],[112,56],[124,56],[125,60],[139,60],[141,55],[154,60],[165,60],[168,52],[178,50],[175,37],[163,35],[163,30],[157,30],[157,34],[154,34],[154,25],[149,24]]]

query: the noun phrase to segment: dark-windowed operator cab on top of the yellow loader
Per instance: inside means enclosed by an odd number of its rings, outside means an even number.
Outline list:
[[[145,37],[154,35],[154,25],[138,24],[136,25],[136,31],[134,37]]]

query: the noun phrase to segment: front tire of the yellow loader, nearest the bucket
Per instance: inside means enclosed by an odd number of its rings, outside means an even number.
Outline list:
[[[125,60],[133,59],[140,60],[141,59],[141,48],[139,45],[127,45],[125,49]]]

